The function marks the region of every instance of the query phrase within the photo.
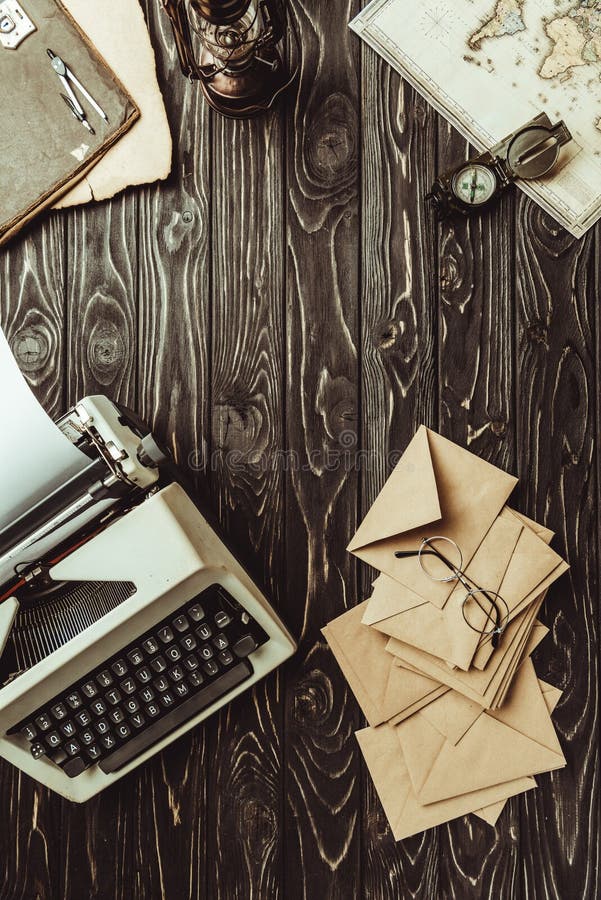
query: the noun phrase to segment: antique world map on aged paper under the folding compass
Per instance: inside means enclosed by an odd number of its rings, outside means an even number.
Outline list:
[[[601,217],[601,0],[373,0],[351,28],[480,150],[563,119],[559,166],[520,187],[576,237]]]

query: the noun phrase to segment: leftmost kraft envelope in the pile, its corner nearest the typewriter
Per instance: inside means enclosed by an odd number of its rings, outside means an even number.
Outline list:
[[[439,682],[394,665],[386,653],[386,637],[361,624],[365,603],[349,609],[325,628],[338,665],[370,725],[393,716],[411,715],[449,688]]]

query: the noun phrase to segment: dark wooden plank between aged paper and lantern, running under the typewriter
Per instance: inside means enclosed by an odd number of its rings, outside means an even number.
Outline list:
[[[168,182],[138,193],[138,409],[185,475],[206,490],[209,435],[210,123],[182,76],[160,4],[144,4],[174,140]],[[128,812],[126,897],[204,898],[205,730],[194,731],[116,790]],[[135,871],[135,875],[132,873]]]

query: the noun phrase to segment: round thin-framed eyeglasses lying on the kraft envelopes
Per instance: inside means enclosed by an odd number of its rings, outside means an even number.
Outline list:
[[[481,588],[463,571],[463,555],[458,545],[444,535],[424,538],[417,550],[397,550],[397,559],[417,557],[422,572],[432,581],[458,581],[466,590],[461,612],[466,625],[493,647],[499,645],[509,618],[509,607],[496,591]]]

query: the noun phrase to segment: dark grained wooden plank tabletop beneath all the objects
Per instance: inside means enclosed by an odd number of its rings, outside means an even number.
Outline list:
[[[468,148],[347,29],[357,2],[292,2],[300,79],[252,123],[209,114],[145,6],[173,174],[14,241],[0,321],[51,413],[103,392],[155,424],[300,648],[83,807],[2,764],[0,897],[593,898],[601,231],[517,192],[438,228],[423,195]],[[369,590],[345,545],[422,422],[519,475],[557,531],[572,568],[535,661],[568,766],[496,829],[395,844],[320,628]]]

